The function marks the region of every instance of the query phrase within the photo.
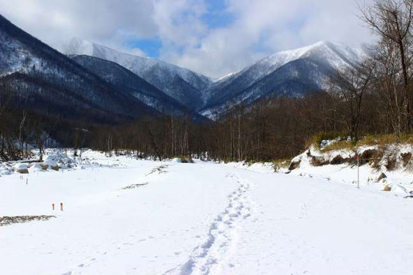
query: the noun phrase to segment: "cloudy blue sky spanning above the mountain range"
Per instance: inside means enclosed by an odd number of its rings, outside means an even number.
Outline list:
[[[320,40],[373,40],[357,1],[372,0],[0,0],[0,10],[59,50],[78,37],[221,77]]]

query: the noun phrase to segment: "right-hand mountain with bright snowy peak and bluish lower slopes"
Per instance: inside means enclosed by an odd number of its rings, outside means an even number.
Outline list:
[[[366,52],[332,42],[278,52],[248,68],[218,79],[207,91],[201,113],[215,117],[233,104],[250,103],[260,97],[299,95],[323,88],[336,68],[359,63]]]

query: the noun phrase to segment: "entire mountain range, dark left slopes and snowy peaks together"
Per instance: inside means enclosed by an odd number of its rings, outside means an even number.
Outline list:
[[[362,48],[322,41],[272,54],[213,81],[186,68],[77,38],[63,51],[77,56],[74,62],[3,17],[0,23],[0,84],[12,87],[33,108],[47,104],[52,111],[77,116],[91,109],[87,114],[98,118],[113,113],[135,118],[158,111],[188,111],[197,117],[196,111],[216,118],[235,104],[317,91],[333,70],[354,66],[367,55]]]

